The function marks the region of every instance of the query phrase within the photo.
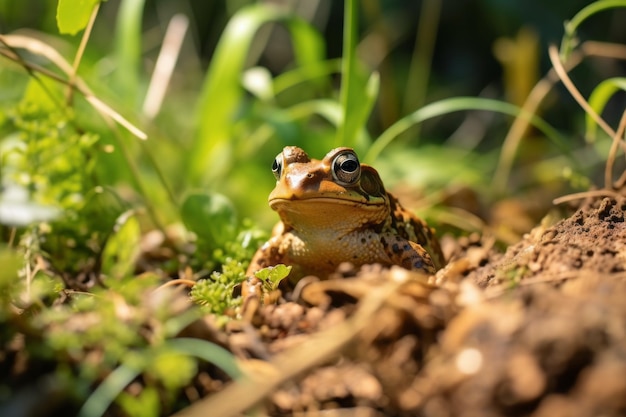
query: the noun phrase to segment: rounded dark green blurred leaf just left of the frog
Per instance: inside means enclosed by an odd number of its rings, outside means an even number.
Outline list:
[[[237,236],[237,212],[231,201],[218,193],[194,193],[181,207],[183,223],[209,248],[223,248]]]

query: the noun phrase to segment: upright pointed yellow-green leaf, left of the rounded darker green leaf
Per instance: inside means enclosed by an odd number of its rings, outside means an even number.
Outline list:
[[[112,278],[122,279],[132,274],[139,255],[141,229],[134,211],[122,214],[115,225],[102,253],[102,272]]]

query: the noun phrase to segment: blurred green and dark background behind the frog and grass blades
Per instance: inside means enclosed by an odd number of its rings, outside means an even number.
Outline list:
[[[285,25],[270,22],[255,32],[249,46],[239,51],[233,45],[241,39],[234,39],[228,44],[232,49],[218,56],[216,48],[224,42],[227,24],[253,4],[278,5],[287,15],[302,18],[318,32],[320,50],[304,51],[309,56],[298,62],[305,43],[298,44]],[[539,0],[358,2],[356,56],[363,79],[378,72],[380,85],[364,130],[354,142],[344,144],[364,155],[376,138],[403,116],[445,98],[483,97],[522,105],[550,68],[548,45],[560,43],[564,22],[587,4]],[[40,0],[0,0],[0,32],[43,39],[71,62],[81,36],[58,34],[56,5]],[[283,146],[295,144],[321,157],[338,144],[332,121],[336,108],[323,101],[330,99],[336,104],[339,99],[343,7],[343,2],[330,0],[102,3],[78,74],[97,97],[146,131],[149,139],[140,143],[125,131],[121,134],[144,184],[144,191],[138,191],[128,162],[119,152],[119,139],[113,139],[93,110],[78,100],[81,127],[100,136],[99,182],[118,187],[128,201],[141,201],[149,194],[144,203],[157,206],[163,222],[176,219],[185,193],[208,189],[231,198],[243,216],[269,225],[275,216],[264,202],[273,186],[269,166],[274,156]],[[189,27],[173,76],[167,81],[162,107],[154,117],[147,117],[142,109],[150,78],[168,24],[177,14],[189,19]],[[623,43],[624,21],[623,9],[598,13],[580,27],[578,35],[581,40]],[[242,55],[243,67],[228,63],[229,54]],[[226,61],[225,71],[235,73],[230,78],[218,71],[211,73],[217,60]],[[255,71],[247,71],[253,67]],[[623,70],[623,62],[589,59],[572,77],[588,95],[601,80]],[[0,77],[2,105],[21,100],[29,81],[23,69],[2,59]],[[220,90],[222,79],[240,84]],[[208,86],[211,83],[214,85]],[[219,96],[232,93],[241,83],[241,91],[227,98]],[[220,113],[222,104],[224,114]],[[615,123],[623,107],[624,97],[614,97],[605,111],[607,120]],[[376,155],[376,161],[369,162],[392,188],[401,184],[416,190],[441,190],[462,184],[482,189],[487,198],[566,183],[566,168],[601,178],[598,174],[608,142],[585,143],[584,113],[562,87],[556,87],[538,115],[562,135],[568,152],[531,130],[518,150],[511,177],[498,189],[490,185],[512,118],[493,112],[450,112],[428,119],[400,134]],[[222,131],[214,133],[220,126]],[[207,132],[213,139],[207,139]],[[557,187],[554,192],[561,190]]]

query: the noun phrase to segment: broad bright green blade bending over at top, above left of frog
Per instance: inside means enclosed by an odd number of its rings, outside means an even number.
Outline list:
[[[322,60],[322,38],[307,22],[267,4],[240,9],[220,38],[202,87],[196,115],[198,131],[188,162],[192,185],[208,183],[227,169],[233,119],[244,95],[241,77],[246,58],[259,28],[269,22],[286,24],[300,64]]]

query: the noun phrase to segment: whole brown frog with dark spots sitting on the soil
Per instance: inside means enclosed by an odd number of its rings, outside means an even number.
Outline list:
[[[292,280],[309,274],[323,279],[342,262],[429,274],[443,267],[433,230],[386,192],[378,172],[359,163],[352,149],[333,149],[316,160],[288,146],[272,171],[277,183],[269,205],[281,222],[252,258],[244,297],[259,290],[254,272],[277,264],[292,265]]]

